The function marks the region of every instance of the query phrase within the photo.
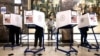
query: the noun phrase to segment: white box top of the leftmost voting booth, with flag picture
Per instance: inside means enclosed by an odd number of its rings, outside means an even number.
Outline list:
[[[3,25],[13,25],[22,28],[22,16],[17,14],[4,14]]]

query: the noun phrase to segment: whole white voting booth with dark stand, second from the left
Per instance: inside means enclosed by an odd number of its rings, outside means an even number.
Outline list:
[[[42,29],[45,28],[45,14],[43,12],[37,11],[37,10],[25,10],[24,11],[24,24],[27,26],[27,28],[37,28],[37,26]],[[43,42],[42,42],[42,48],[38,49],[38,50],[30,50],[29,49],[29,29],[28,29],[28,44],[27,44],[27,48],[24,51],[24,54],[26,55],[26,53],[33,53],[36,54],[40,51],[42,51],[43,49],[45,49],[44,47],[44,34],[43,34]]]

